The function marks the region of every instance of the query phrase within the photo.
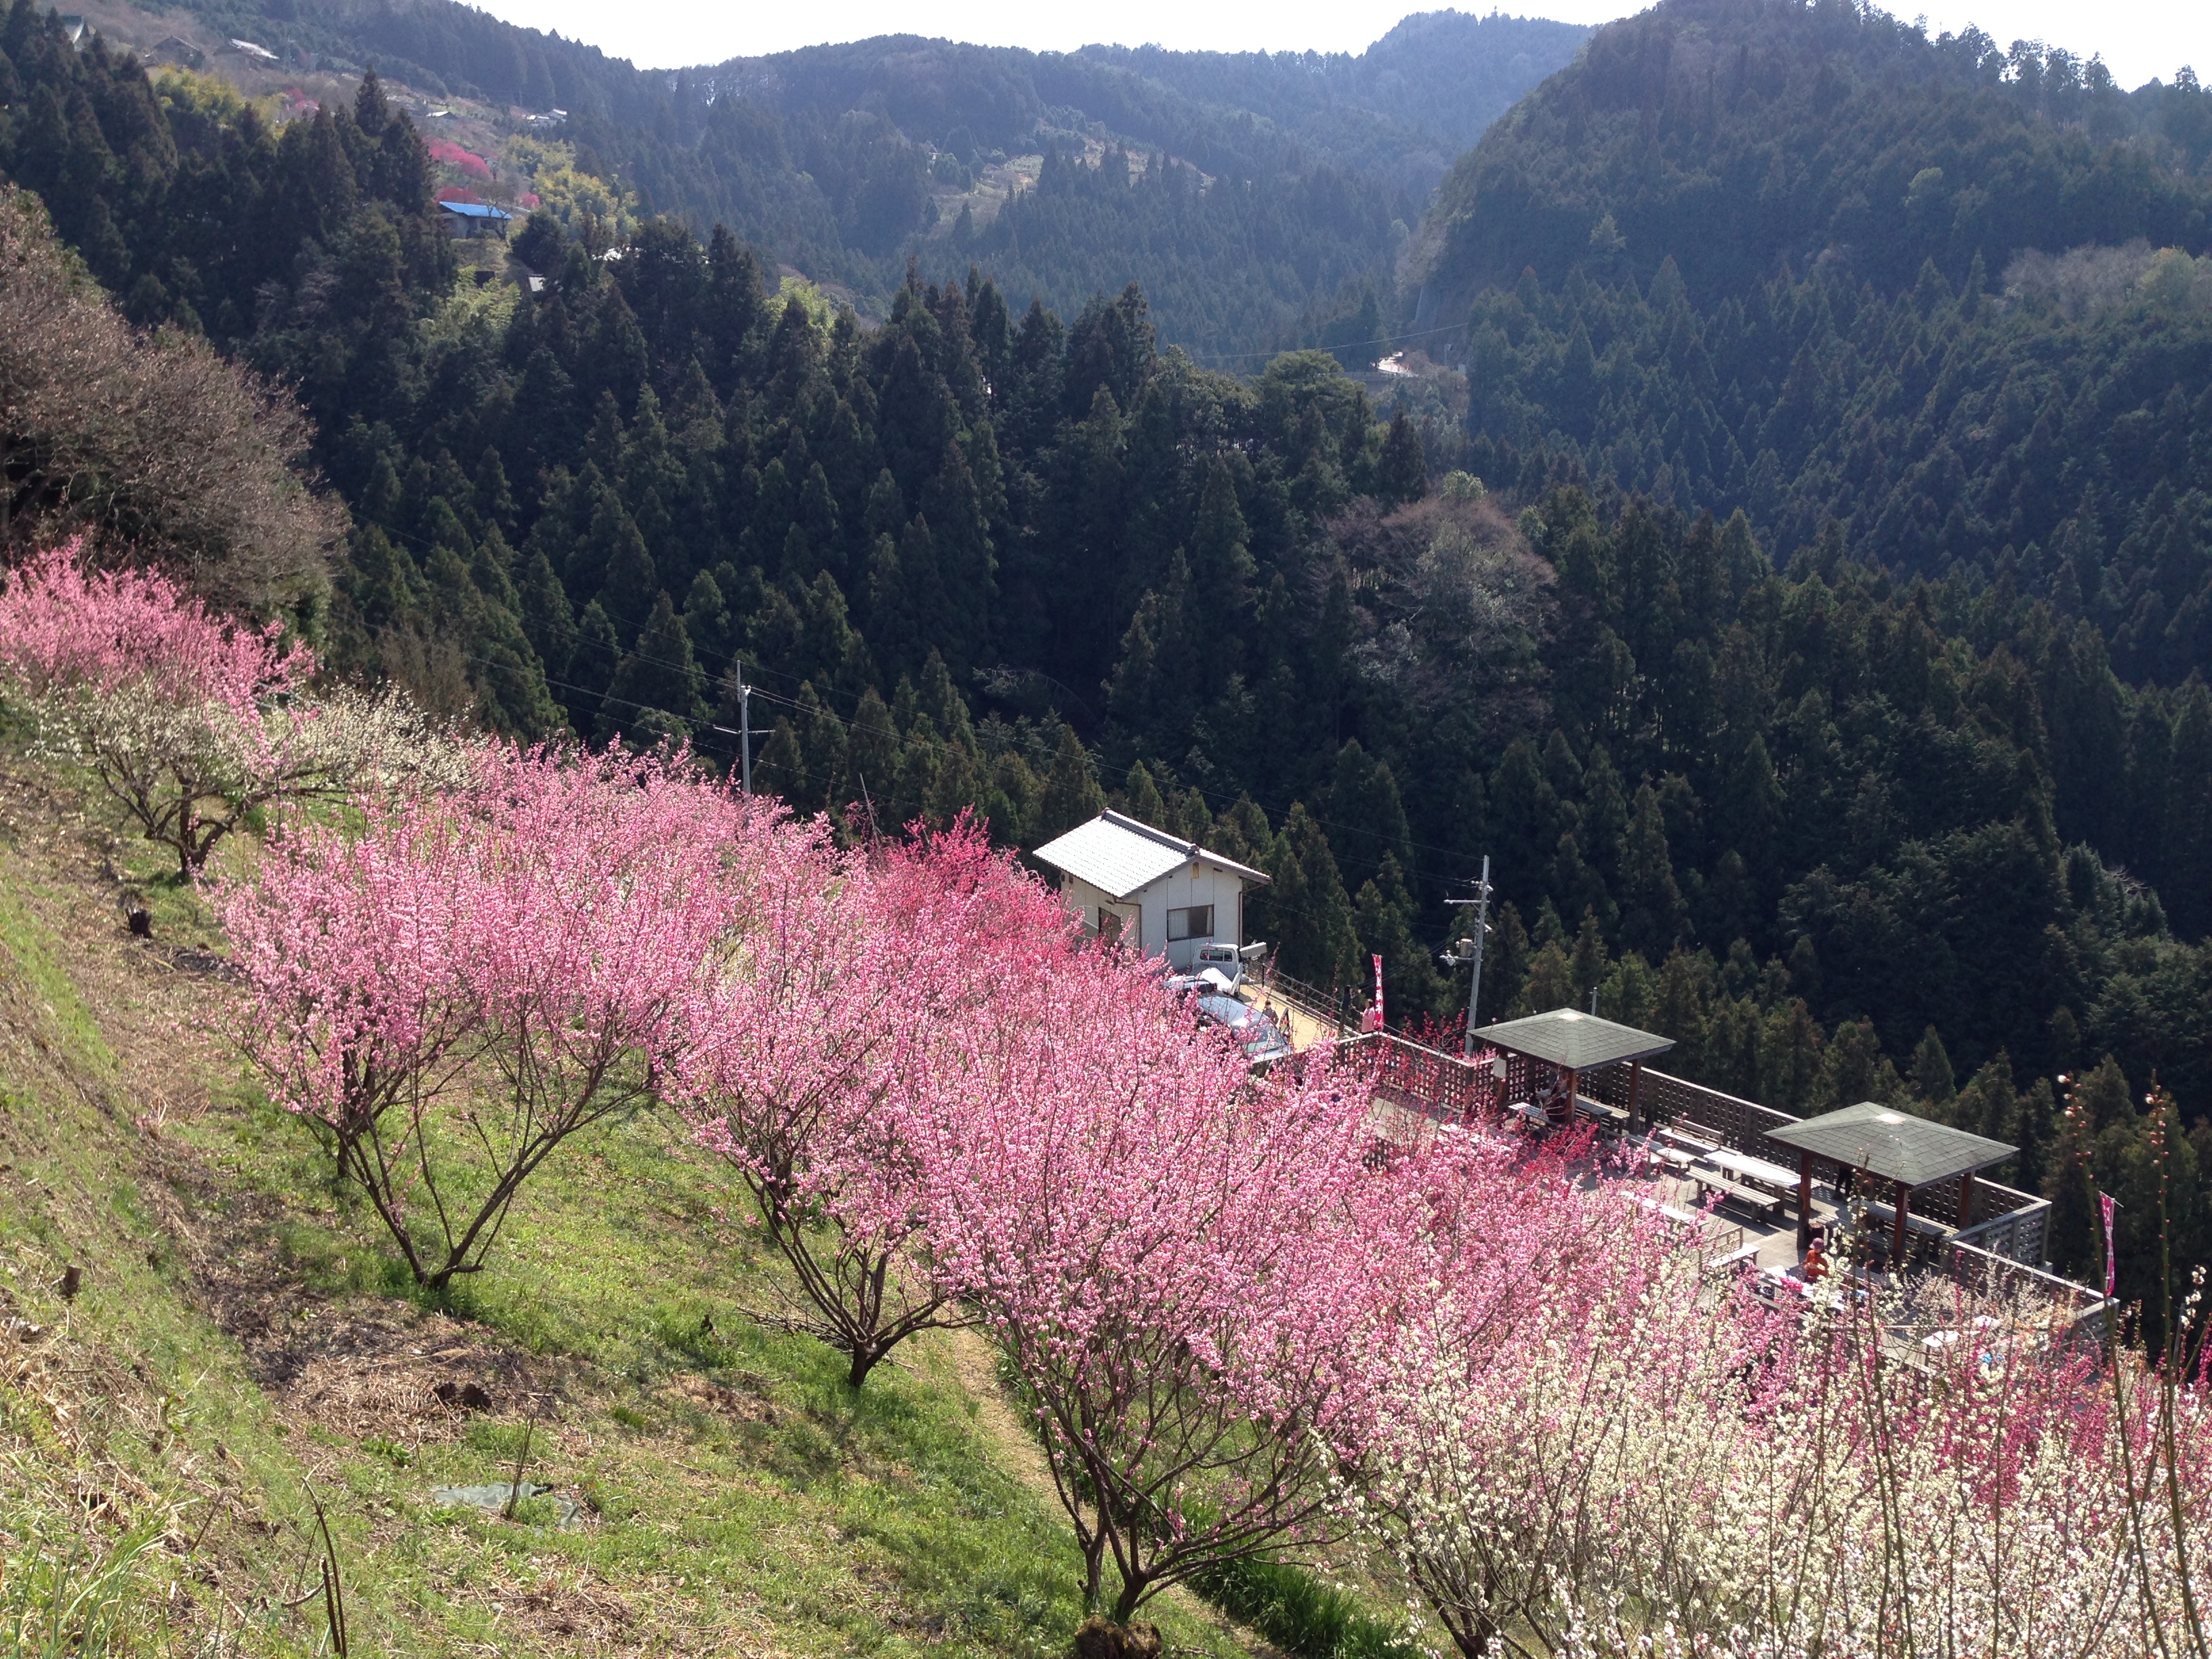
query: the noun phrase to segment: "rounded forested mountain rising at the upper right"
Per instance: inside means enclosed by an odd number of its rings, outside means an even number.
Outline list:
[[[1422,230],[1429,305],[1473,296],[1473,465],[1573,451],[1785,549],[1834,520],[2002,571],[2177,684],[2212,650],[2208,155],[2185,73],[2124,93],[1847,4],[1610,24]]]

